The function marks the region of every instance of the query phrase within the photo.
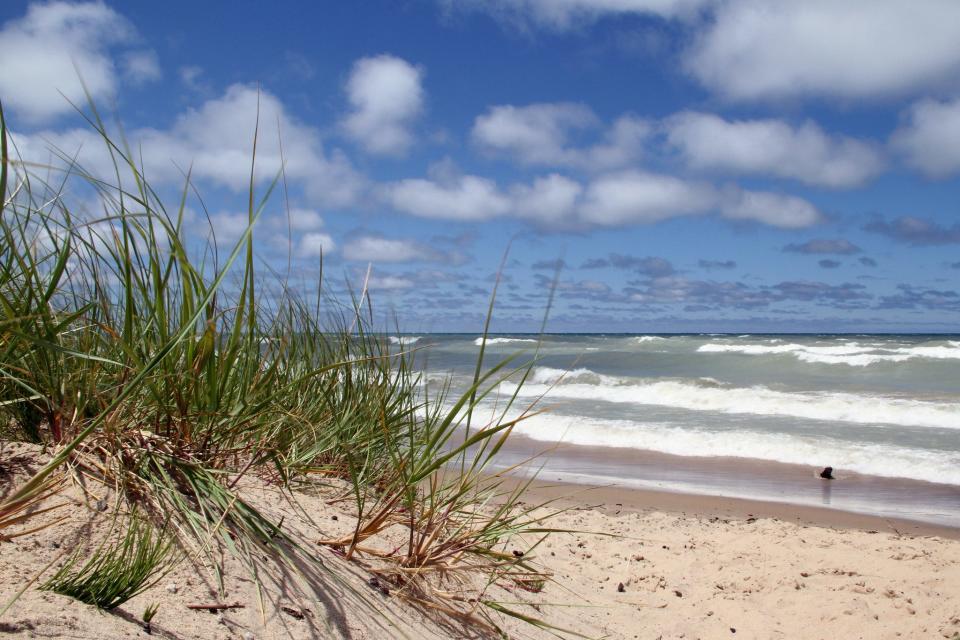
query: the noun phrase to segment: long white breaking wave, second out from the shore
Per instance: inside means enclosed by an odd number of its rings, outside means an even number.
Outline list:
[[[509,393],[516,385],[502,383]],[[786,392],[732,387],[713,379],[620,378],[589,369],[537,367],[518,391],[524,397],[600,400],[728,414],[789,416],[864,425],[960,429],[960,404],[841,392]]]

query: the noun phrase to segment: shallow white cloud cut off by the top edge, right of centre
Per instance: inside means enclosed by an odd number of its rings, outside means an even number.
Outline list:
[[[484,11],[518,26],[532,23],[558,31],[605,16],[687,17],[712,0],[440,0],[447,11]]]

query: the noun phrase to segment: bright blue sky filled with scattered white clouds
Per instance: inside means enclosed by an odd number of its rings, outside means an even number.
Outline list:
[[[955,0],[6,0],[0,100],[109,176],[82,76],[227,249],[256,130],[262,264],[407,332],[501,264],[499,331],[553,289],[556,332],[958,332],[957,42]]]

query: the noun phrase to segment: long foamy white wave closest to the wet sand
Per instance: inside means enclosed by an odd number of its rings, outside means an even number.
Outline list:
[[[960,484],[960,453],[753,431],[707,431],[662,424],[539,414],[516,432],[546,442],[644,449],[681,456],[755,458],[857,473]]]

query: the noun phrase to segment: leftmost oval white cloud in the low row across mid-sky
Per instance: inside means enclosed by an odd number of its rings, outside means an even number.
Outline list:
[[[487,220],[511,209],[495,182],[470,175],[443,182],[401,180],[387,185],[384,196],[394,209],[424,218]]]

